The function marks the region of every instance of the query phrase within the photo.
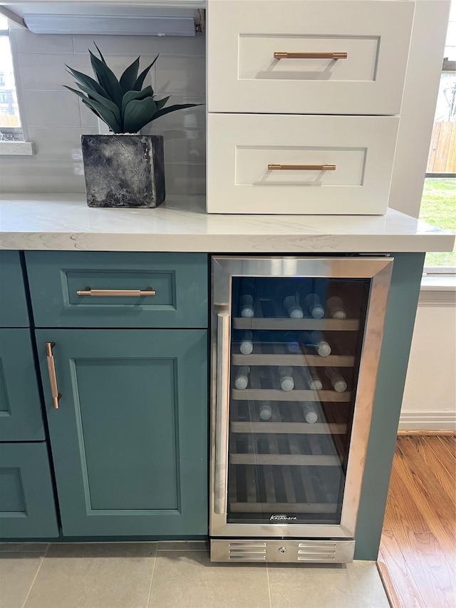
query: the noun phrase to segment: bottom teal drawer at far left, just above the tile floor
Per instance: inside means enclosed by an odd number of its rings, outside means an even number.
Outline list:
[[[46,443],[0,444],[0,539],[57,536]]]

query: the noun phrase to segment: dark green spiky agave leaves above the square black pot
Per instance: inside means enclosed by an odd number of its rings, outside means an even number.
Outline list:
[[[100,58],[95,56],[90,49],[88,51],[95,78],[66,66],[68,72],[75,78],[76,86],[80,91],[70,86],[64,86],[81,98],[84,105],[98,118],[101,118],[113,133],[138,133],[145,125],[160,116],[200,105],[198,103],[177,103],[165,107],[170,99],[169,96],[155,99],[152,86],[142,88],[158,55],[139,76],[140,57],[125,69],[120,78],[117,78],[108,67],[96,44],[95,48]]]

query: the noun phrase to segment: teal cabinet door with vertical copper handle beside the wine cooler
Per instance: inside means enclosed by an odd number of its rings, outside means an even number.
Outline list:
[[[38,329],[36,341],[63,534],[207,534],[207,331]]]

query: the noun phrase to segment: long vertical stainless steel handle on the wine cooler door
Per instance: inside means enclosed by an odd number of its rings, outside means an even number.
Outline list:
[[[217,389],[215,396],[214,511],[227,512],[229,416],[229,313],[217,315]]]

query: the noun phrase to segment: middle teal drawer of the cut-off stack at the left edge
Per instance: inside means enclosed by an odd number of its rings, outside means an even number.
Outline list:
[[[29,329],[0,329],[0,441],[45,438]]]

